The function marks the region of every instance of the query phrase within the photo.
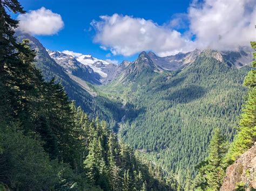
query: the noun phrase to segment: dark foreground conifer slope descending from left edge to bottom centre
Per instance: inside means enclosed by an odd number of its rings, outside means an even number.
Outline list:
[[[0,4],[0,188],[12,190],[176,190],[173,176],[89,119],[54,79],[43,80],[29,41],[16,43],[24,13]]]

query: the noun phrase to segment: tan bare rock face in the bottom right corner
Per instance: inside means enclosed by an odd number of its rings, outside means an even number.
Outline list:
[[[220,190],[235,190],[238,184],[244,186],[245,190],[256,189],[256,142],[227,168]]]

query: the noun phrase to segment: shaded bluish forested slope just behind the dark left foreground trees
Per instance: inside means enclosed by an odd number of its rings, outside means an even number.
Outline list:
[[[43,77],[46,81],[50,81],[54,77],[57,82],[62,83],[70,100],[75,100],[76,104],[82,107],[82,109],[89,114],[89,117],[98,116],[101,119],[109,122],[111,128],[116,128],[116,121],[119,121],[119,119],[123,116],[123,111],[120,109],[121,105],[118,102],[113,100],[111,101],[107,97],[93,97],[90,95],[90,93],[83,86],[80,86],[80,84],[76,81],[77,79],[71,79],[72,76],[70,77],[69,73],[65,72],[63,66],[58,65],[56,61],[50,57],[45,47],[43,47],[43,45],[35,37],[20,31],[16,31],[15,36],[17,37],[18,41],[22,41],[22,39],[30,40],[30,47],[36,51],[35,65],[42,71]],[[98,81],[97,79],[93,79],[93,74],[89,73],[88,70],[84,71],[85,68],[78,67],[77,69],[83,69],[83,74],[92,75],[84,76],[84,78],[81,79],[86,80],[84,83]],[[79,72],[77,73],[80,74]],[[75,72],[75,74],[77,73]],[[78,77],[79,76],[80,75],[78,75]],[[87,87],[90,88],[90,85]]]

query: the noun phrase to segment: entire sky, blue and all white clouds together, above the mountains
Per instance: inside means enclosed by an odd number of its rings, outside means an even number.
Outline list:
[[[28,11],[19,29],[46,48],[119,63],[142,51],[234,50],[256,37],[254,0],[19,1]]]

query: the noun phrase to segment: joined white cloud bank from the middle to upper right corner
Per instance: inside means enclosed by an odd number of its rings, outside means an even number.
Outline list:
[[[118,14],[100,16],[91,25],[96,30],[95,43],[113,55],[150,50],[166,56],[207,47],[227,50],[249,45],[255,39],[255,5],[254,0],[194,1],[185,15],[178,14],[163,26]],[[184,19],[189,27],[181,34],[174,29],[184,28]]]

